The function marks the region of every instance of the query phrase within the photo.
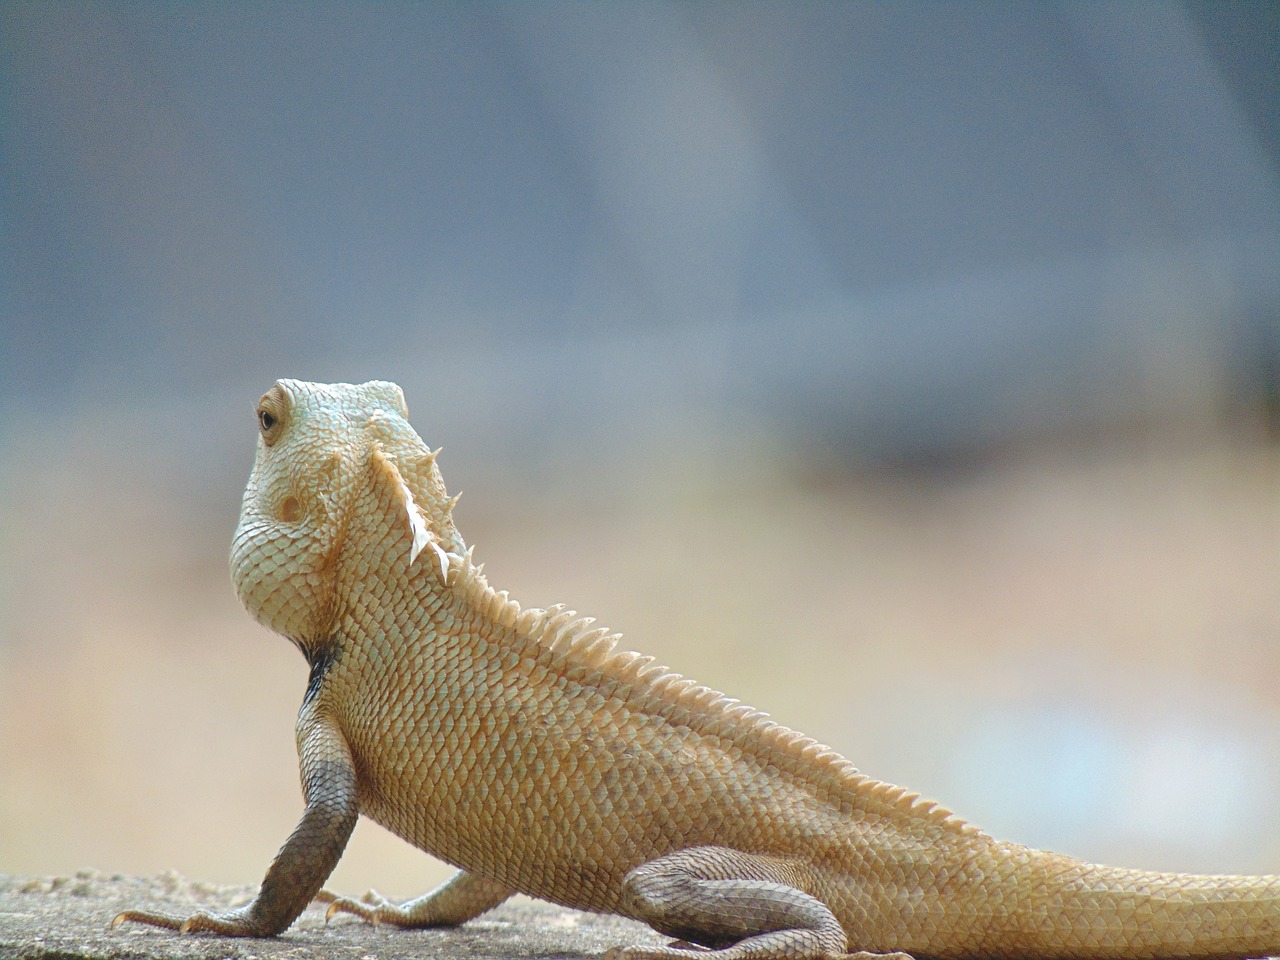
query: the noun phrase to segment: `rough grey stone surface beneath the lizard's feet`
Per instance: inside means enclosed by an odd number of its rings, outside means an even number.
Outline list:
[[[663,942],[646,927],[516,897],[451,929],[397,931],[349,918],[324,920],[312,906],[283,936],[228,940],[123,924],[127,908],[174,914],[246,902],[253,887],[219,887],[177,873],[124,877],[0,874],[4,960],[413,960],[415,957],[593,957],[617,943]]]

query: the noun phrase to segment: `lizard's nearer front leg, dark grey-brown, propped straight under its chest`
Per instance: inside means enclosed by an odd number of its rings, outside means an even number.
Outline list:
[[[310,705],[298,717],[298,756],[307,809],[268,868],[252,902],[224,914],[196,913],[186,918],[125,910],[111,925],[132,920],[227,937],[271,937],[285,931],[333,873],[358,815],[356,769],[347,741]]]

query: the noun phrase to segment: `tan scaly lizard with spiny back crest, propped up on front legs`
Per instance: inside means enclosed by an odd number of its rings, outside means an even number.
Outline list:
[[[609,960],[1280,952],[1280,877],[996,840],[564,605],[494,590],[396,384],[279,380],[256,416],[230,570],[310,664],[306,808],[250,904],[113,925],[274,936],[319,899],[426,928],[522,892],[673,938]],[[404,904],[324,891],[361,814],[460,872]]]

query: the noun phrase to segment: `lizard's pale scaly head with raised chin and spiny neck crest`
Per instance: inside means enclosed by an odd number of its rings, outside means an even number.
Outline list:
[[[448,576],[449,553],[466,549],[454,500],[399,387],[279,380],[256,420],[230,567],[261,623],[307,652],[333,636],[343,585],[430,576],[429,566]]]

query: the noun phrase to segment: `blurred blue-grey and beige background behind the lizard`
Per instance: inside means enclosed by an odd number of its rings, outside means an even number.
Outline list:
[[[463,535],[997,836],[1280,872],[1280,5],[0,12],[0,870],[256,883],[279,376]],[[332,887],[447,870],[362,824]]]

